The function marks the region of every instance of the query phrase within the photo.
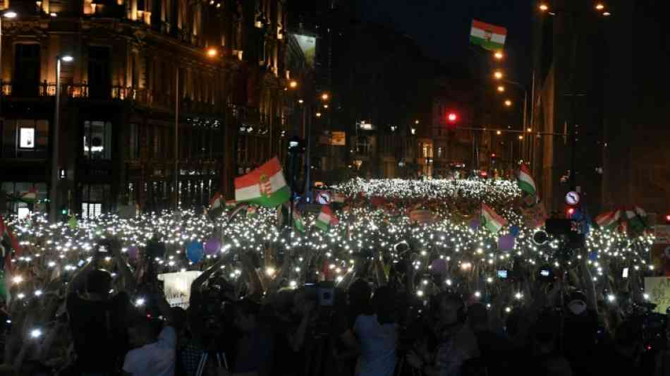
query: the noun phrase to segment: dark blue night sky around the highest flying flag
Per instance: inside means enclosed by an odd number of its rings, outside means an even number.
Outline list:
[[[362,20],[392,25],[427,56],[465,62],[473,18],[507,28],[508,77],[530,82],[532,0],[356,0]]]

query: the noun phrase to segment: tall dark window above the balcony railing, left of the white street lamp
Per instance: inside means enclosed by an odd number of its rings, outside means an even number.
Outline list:
[[[37,97],[39,90],[39,44],[16,44],[12,95]]]

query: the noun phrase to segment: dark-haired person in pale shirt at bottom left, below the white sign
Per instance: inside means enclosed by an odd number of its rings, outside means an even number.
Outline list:
[[[136,348],[126,354],[125,375],[174,376],[177,334],[169,325],[158,336],[155,333],[156,325],[148,319],[128,328],[130,343]]]

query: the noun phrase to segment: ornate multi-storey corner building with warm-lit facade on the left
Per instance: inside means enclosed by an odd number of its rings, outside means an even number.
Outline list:
[[[0,213],[207,205],[284,159],[285,89],[305,66],[286,1],[0,8]]]

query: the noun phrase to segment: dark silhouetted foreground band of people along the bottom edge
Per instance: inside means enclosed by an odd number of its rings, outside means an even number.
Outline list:
[[[670,332],[643,276],[595,278],[586,253],[572,269],[519,266],[496,281],[477,265],[415,268],[412,250],[355,254],[333,281],[315,253],[298,284],[285,276],[304,255],[285,253],[270,278],[240,254],[238,281],[222,272],[231,260],[212,261],[184,309],[148,257],[133,272],[118,241],[106,248],[39,298],[11,301],[0,375],[670,375]]]

